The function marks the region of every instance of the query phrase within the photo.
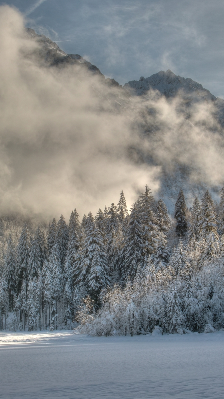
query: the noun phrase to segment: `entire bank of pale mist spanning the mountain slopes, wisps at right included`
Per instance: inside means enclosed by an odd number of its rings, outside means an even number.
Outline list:
[[[145,184],[155,196],[161,182],[179,190],[177,165],[191,193],[223,184],[214,105],[186,108],[181,94],[169,101],[154,92],[129,97],[83,68],[45,68],[23,24],[16,10],[1,7],[2,212],[68,219],[74,207],[83,215],[117,203],[122,189],[130,208]]]

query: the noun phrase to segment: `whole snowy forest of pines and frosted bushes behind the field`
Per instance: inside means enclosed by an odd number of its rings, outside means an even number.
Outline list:
[[[74,328],[96,335],[183,333],[224,328],[224,189],[187,209],[181,190],[175,223],[148,186],[130,215],[118,205],[95,217],[76,209],[31,237],[12,231],[0,278],[0,328]],[[18,231],[16,230],[16,234]],[[4,229],[1,230],[4,241]],[[177,246],[169,245],[172,239]]]

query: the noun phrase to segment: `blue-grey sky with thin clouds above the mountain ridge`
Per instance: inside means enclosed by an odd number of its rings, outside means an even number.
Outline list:
[[[224,98],[221,0],[10,0],[26,26],[120,84],[171,69]]]

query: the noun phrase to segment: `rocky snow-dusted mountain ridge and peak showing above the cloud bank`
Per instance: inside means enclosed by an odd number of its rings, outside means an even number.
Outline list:
[[[41,52],[38,56],[49,66],[66,67],[67,65],[80,65],[88,71],[102,77],[102,81],[110,86],[119,87],[119,83],[114,79],[105,79],[100,69],[96,65],[92,65],[79,54],[67,54],[59,48],[59,46],[44,35],[38,35],[33,29],[26,30],[30,38],[35,38],[41,44]],[[122,87],[122,86],[120,86]],[[204,89],[202,85],[191,78],[175,75],[170,69],[167,71],[159,71],[150,77],[140,77],[139,81],[133,80],[125,83],[123,89],[128,95],[146,95],[148,91],[157,91],[161,96],[173,98],[181,95],[185,99],[185,106],[189,107],[191,103],[212,101],[215,105],[217,117],[222,125],[224,125],[224,100],[215,97],[210,91]]]

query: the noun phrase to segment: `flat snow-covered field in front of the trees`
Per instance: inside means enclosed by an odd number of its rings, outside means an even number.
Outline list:
[[[0,333],[0,398],[224,398],[224,332]]]

